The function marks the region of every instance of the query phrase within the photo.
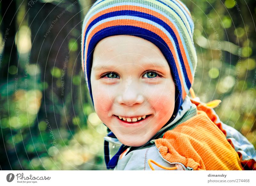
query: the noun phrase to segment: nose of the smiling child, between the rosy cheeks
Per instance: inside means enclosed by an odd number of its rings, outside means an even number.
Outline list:
[[[117,103],[125,106],[132,106],[135,104],[142,104],[144,97],[140,94],[140,88],[131,84],[125,87],[120,95],[117,97]]]

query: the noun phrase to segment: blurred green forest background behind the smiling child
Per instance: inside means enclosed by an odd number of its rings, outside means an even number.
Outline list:
[[[106,127],[81,68],[93,0],[0,1],[0,169],[106,170]],[[193,89],[256,146],[255,0],[183,0],[195,22]]]

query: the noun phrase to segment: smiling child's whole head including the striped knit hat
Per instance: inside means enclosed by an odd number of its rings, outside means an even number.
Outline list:
[[[176,116],[196,67],[193,27],[178,0],[99,0],[89,10],[83,70],[95,111],[123,144],[147,143]]]

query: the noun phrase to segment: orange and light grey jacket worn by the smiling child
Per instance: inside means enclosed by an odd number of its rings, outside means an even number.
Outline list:
[[[105,141],[122,145],[113,136]],[[175,164],[183,170],[256,170],[253,145],[211,107],[188,96],[175,119],[149,143],[126,147],[117,160],[114,170],[171,170]]]

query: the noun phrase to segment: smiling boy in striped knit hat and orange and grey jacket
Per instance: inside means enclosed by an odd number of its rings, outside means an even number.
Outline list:
[[[110,130],[107,168],[255,169],[252,144],[210,104],[187,96],[197,62],[193,29],[178,0],[99,0],[87,13],[82,65]],[[121,144],[111,160],[108,142]]]

